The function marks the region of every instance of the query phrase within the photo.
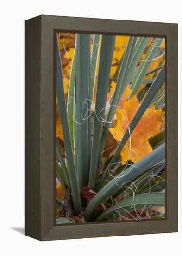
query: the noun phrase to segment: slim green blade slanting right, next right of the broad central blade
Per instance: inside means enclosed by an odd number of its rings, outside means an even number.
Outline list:
[[[122,89],[123,91],[126,89],[127,84],[125,84],[125,86],[123,86],[123,81],[126,75],[126,71],[127,68],[129,66],[129,60],[131,59],[131,55],[132,55],[132,51],[133,48],[135,46],[135,38],[133,36],[130,37],[129,41],[128,41],[128,45],[124,54],[124,58],[122,61],[122,65],[121,65],[121,70],[119,73],[119,77],[118,77],[118,81],[116,83],[116,87],[112,96],[112,100],[110,101],[111,107],[109,108],[109,114],[107,116],[107,122],[110,124],[113,120],[113,116],[116,110],[116,105],[118,102],[118,98],[119,98],[119,92]],[[125,88],[124,88],[125,87]],[[102,154],[102,151],[105,148],[106,145],[106,141],[107,141],[107,136],[109,133],[108,127],[110,128],[110,125],[107,125],[104,128],[103,131],[103,135],[102,135],[102,140],[101,140],[101,144],[100,144],[100,155]]]

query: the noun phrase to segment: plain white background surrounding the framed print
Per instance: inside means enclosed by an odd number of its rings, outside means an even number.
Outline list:
[[[39,242],[24,226],[24,20],[39,14],[179,24],[179,145],[182,143],[182,12],[179,0],[6,0],[0,4],[1,255],[171,255],[182,246],[182,148],[179,233]],[[172,171],[172,170],[171,170]],[[18,231],[20,232],[18,232]],[[175,252],[176,251],[176,252]]]

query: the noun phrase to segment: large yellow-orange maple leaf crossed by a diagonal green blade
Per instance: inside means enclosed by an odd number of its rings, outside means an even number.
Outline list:
[[[116,109],[117,125],[109,128],[115,140],[122,140],[139,106],[137,96],[134,95],[130,100],[124,101],[123,110]],[[144,112],[144,115],[133,130],[131,138],[128,139],[125,147],[120,152],[123,163],[126,163],[129,159],[132,162],[138,162],[145,155],[152,152],[149,138],[160,132],[160,126],[163,122],[162,115],[162,109],[155,110],[154,105]]]

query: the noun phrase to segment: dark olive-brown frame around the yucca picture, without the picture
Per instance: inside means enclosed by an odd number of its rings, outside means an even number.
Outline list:
[[[166,38],[167,218],[55,224],[55,31]],[[38,240],[177,232],[177,24],[40,15],[25,21],[25,235]]]

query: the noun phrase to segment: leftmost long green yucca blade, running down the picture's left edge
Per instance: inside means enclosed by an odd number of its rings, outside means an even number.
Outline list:
[[[59,116],[62,123],[64,146],[66,150],[67,161],[69,163],[69,166],[71,167],[70,168],[70,186],[71,186],[71,191],[73,195],[75,214],[79,214],[81,212],[80,190],[79,190],[78,178],[77,178],[76,169],[75,169],[73,149],[71,146],[71,138],[69,134],[66,102],[64,97],[63,74],[62,74],[58,41],[56,41],[56,96],[57,96]]]

